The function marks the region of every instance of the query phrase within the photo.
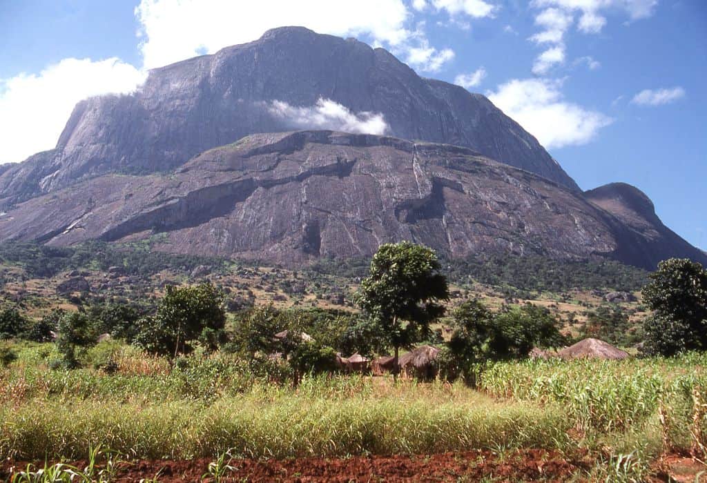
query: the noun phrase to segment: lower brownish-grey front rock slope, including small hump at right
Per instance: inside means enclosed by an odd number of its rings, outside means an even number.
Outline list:
[[[0,217],[0,239],[151,239],[175,253],[288,265],[370,256],[401,239],[452,258],[604,256],[646,268],[667,256],[707,262],[665,238],[644,198],[627,185],[585,196],[469,148],[296,131],[247,136],[170,174],[106,174],[33,198]]]

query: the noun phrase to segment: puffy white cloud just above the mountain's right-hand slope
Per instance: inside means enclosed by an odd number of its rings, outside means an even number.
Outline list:
[[[548,149],[588,143],[612,123],[601,112],[564,101],[560,88],[561,81],[513,79],[487,95]]]

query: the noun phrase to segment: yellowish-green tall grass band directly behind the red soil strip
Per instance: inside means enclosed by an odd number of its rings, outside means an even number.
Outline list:
[[[332,392],[329,381],[319,381],[300,392],[259,387],[213,403],[30,400],[0,410],[0,454],[80,458],[88,443],[136,458],[193,458],[228,448],[256,458],[433,453],[554,446],[568,429],[559,408],[497,403],[471,390],[414,395],[408,386],[380,397],[346,385]]]

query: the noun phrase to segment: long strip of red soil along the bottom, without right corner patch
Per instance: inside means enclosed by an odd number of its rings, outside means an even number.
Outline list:
[[[117,482],[137,482],[156,473],[160,483],[197,482],[211,459],[140,460],[122,463]],[[82,467],[77,462],[76,467]],[[85,463],[83,464],[85,465]],[[298,458],[291,460],[234,459],[224,481],[248,482],[456,482],[493,477],[494,482],[562,482],[579,468],[559,453],[522,450],[498,455],[491,451],[467,451],[438,455],[355,456],[351,458]],[[26,464],[17,463],[23,468]],[[43,464],[42,464],[43,466]],[[11,464],[0,470],[8,474]],[[204,481],[213,481],[206,478]]]

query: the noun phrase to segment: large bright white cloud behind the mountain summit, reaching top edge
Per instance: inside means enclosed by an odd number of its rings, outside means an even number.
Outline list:
[[[369,35],[395,47],[408,39],[411,15],[402,0],[142,0],[135,14],[148,68],[250,42],[282,25],[342,37]]]

